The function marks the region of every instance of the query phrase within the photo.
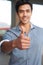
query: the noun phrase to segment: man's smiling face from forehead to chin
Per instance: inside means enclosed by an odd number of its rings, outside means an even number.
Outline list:
[[[32,11],[29,4],[24,4],[19,6],[18,17],[21,23],[23,24],[28,23],[30,21],[31,14],[32,14]]]

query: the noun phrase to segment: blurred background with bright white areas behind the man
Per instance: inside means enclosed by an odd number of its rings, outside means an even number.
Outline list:
[[[17,25],[19,21],[15,12],[16,1],[17,0],[0,0],[0,41],[2,40],[3,34],[5,34],[9,28]],[[33,4],[31,22],[34,25],[43,28],[43,0],[30,0],[30,2]],[[1,53],[0,50],[0,65],[8,65],[9,58],[9,55]]]

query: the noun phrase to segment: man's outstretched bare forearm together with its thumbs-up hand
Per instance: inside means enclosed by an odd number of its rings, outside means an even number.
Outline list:
[[[11,52],[14,48],[25,50],[30,47],[30,38],[24,36],[24,33],[21,32],[20,36],[12,41],[5,41],[1,45],[1,50],[3,52]]]

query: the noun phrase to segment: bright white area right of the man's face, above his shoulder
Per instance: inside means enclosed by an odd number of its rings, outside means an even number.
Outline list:
[[[43,28],[43,5],[33,4],[31,22],[34,25]]]

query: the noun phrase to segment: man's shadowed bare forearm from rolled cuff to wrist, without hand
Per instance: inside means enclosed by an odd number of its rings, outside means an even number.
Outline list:
[[[15,47],[15,41],[5,41],[1,45],[1,50],[7,53],[11,52]]]

